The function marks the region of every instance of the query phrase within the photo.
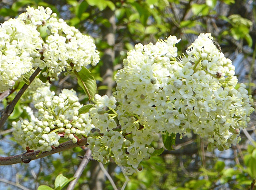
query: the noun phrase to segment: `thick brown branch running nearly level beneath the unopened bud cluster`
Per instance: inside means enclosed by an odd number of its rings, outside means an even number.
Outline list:
[[[45,151],[39,154],[40,151],[33,151],[33,152],[25,152],[23,154],[15,155],[15,156],[0,157],[0,165],[11,165],[11,164],[22,163],[22,162],[29,163],[32,160],[43,158],[51,154],[62,152],[77,146],[83,146],[85,144],[87,144],[87,138],[83,137],[79,139],[77,143],[73,143],[72,140],[63,142],[59,144],[58,147],[53,148],[50,152]]]

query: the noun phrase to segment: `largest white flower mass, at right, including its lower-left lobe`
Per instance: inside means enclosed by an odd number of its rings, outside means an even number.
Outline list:
[[[97,96],[98,106],[90,110],[99,129],[88,138],[94,159],[108,162],[112,157],[131,174],[154,152],[150,144],[158,133],[193,131],[207,139],[208,151],[228,149],[240,140],[240,128],[254,110],[251,97],[244,84],[237,84],[235,67],[212,39],[200,34],[181,57],[175,36],[156,45],[138,44],[128,52],[115,76],[116,100]]]

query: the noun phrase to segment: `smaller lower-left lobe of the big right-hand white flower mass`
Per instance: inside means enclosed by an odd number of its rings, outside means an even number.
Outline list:
[[[115,97],[95,95],[94,100],[95,107],[90,109],[89,114],[99,131],[88,134],[93,158],[103,163],[112,158],[118,166],[124,167],[128,174],[134,173],[139,163],[148,159],[154,152],[154,148],[149,148],[148,145],[157,141],[158,135],[151,133],[148,128],[143,128],[134,117],[123,118],[126,123],[121,124],[121,131],[115,120]]]

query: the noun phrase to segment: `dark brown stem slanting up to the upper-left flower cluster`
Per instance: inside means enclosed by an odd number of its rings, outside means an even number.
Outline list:
[[[41,69],[38,67],[35,72],[30,76],[30,83],[35,79],[35,77],[40,73]],[[9,105],[6,106],[5,111],[2,113],[2,117],[0,119],[0,129],[3,127],[4,123],[12,113],[15,105],[20,100],[20,97],[23,95],[23,93],[27,90],[29,85],[24,84],[21,88],[18,94],[15,96],[15,98],[11,101]]]

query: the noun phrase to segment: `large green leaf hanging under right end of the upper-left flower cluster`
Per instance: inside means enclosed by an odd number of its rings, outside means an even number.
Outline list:
[[[97,85],[94,77],[90,71],[82,66],[80,72],[74,71],[78,79],[78,84],[82,87],[89,100],[93,98],[96,93]]]

